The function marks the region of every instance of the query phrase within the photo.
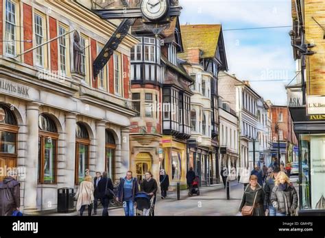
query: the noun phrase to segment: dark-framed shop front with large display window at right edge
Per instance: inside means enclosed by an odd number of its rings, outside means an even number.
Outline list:
[[[325,215],[325,117],[306,116],[304,107],[290,112],[299,141],[299,213]]]

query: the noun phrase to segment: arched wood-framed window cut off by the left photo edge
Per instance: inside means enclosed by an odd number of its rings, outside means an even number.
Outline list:
[[[0,104],[0,168],[16,168],[17,120],[10,107]],[[3,180],[7,171],[0,174]]]

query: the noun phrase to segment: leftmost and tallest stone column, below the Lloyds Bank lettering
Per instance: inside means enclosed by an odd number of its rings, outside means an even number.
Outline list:
[[[39,103],[29,103],[26,112],[27,125],[27,158],[24,213],[35,215],[37,213],[37,180],[38,180],[38,115]]]

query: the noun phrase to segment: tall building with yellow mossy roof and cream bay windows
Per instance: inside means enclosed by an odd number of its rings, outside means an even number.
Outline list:
[[[189,167],[200,185],[219,183],[219,70],[228,70],[221,25],[182,25],[182,65],[195,82],[191,85]]]

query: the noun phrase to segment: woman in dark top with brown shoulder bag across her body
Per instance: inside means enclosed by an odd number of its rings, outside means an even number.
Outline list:
[[[241,200],[241,206],[239,207],[239,211],[243,215],[253,215],[253,216],[264,216],[265,211],[263,209],[264,202],[264,191],[263,187],[257,183],[257,176],[250,176],[250,184],[246,187],[243,199]],[[247,208],[252,207],[251,213],[245,213]],[[244,208],[244,209],[243,209]]]

